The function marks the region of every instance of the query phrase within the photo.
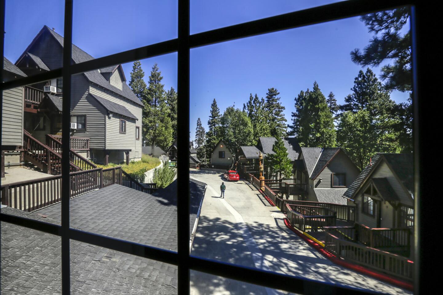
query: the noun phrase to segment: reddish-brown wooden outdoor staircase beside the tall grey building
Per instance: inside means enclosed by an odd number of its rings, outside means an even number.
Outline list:
[[[40,142],[26,130],[23,130],[23,149],[23,160],[31,162],[48,174],[58,175],[62,173],[61,153]],[[59,152],[61,152],[61,143]],[[70,157],[70,172],[91,169],[88,167],[97,168],[96,165],[78,154]]]

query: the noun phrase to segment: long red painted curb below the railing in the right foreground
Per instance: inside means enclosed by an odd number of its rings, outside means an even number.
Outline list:
[[[315,241],[311,240],[310,238],[308,238],[304,234],[301,234],[298,230],[294,229],[291,226],[291,224],[289,223],[287,218],[284,218],[284,224],[290,230],[292,230],[296,235],[298,235],[300,238],[305,240],[309,245],[311,245],[313,248],[317,249],[320,253],[322,253],[322,255],[324,257],[326,257],[330,261],[334,262],[334,264],[341,265],[343,267],[346,267],[346,268],[349,268],[349,269],[354,270],[356,272],[359,272],[359,273],[361,273],[363,275],[371,276],[371,277],[373,277],[373,278],[375,278],[377,280],[384,281],[386,283],[395,285],[397,287],[400,287],[400,288],[403,288],[403,289],[406,289],[406,290],[409,290],[409,291],[413,291],[414,287],[409,282],[405,282],[405,281],[402,281],[402,280],[397,280],[397,279],[394,279],[394,278],[392,278],[390,276],[386,276],[385,274],[381,274],[380,272],[374,272],[372,270],[369,270],[368,268],[365,268],[363,266],[359,266],[359,265],[351,264],[349,262],[342,261],[341,259],[337,258],[334,254],[326,251],[326,249],[324,249],[321,245],[319,245]]]

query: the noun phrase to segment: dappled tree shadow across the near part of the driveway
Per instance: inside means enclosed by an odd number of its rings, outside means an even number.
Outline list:
[[[221,217],[201,216],[191,255],[247,267],[270,268],[274,272],[332,284],[389,294],[405,294],[403,289],[333,264],[289,230],[284,225],[283,218],[274,219],[273,224],[247,223],[247,230],[256,244],[255,248],[251,248],[244,239],[248,237],[242,226],[244,224]],[[249,245],[250,243],[251,241]],[[257,247],[261,253],[251,253]],[[252,255],[259,258],[254,262]],[[218,276],[198,273],[191,276],[191,281],[192,286],[198,290],[194,294],[266,294],[263,287]]]

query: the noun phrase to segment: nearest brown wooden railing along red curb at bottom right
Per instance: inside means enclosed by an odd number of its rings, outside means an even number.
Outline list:
[[[402,279],[412,280],[414,264],[408,258],[340,239],[326,233],[325,248],[338,258],[385,272]]]

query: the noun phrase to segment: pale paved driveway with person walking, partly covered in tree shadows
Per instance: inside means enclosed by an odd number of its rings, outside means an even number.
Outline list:
[[[409,293],[327,260],[284,225],[284,215],[270,206],[252,184],[244,180],[227,182],[220,172],[212,171],[191,169],[190,177],[208,185],[193,255],[389,294]],[[222,181],[226,185],[225,199],[220,198]],[[315,287],[315,291],[320,290]],[[288,292],[191,272],[191,294]]]

